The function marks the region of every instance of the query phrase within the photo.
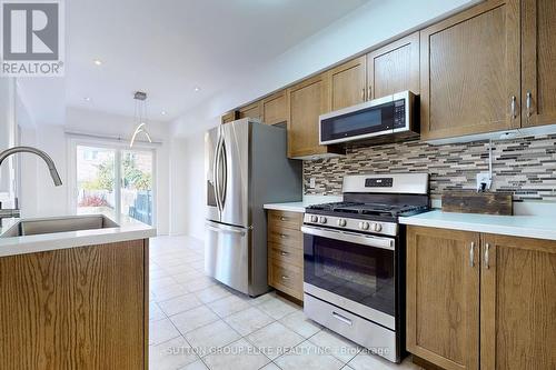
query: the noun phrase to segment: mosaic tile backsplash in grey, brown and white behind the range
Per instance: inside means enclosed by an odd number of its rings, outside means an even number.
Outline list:
[[[348,148],[345,157],[305,161],[304,191],[339,196],[346,174],[388,172],[430,173],[434,198],[449,190],[474,190],[476,174],[488,172],[488,141]],[[493,191],[512,191],[514,200],[556,201],[556,134],[493,141]]]

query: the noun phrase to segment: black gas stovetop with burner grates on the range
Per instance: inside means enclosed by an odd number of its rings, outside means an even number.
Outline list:
[[[357,219],[387,219],[387,221],[396,222],[398,217],[413,216],[428,210],[428,206],[344,201],[310,206],[306,212]]]

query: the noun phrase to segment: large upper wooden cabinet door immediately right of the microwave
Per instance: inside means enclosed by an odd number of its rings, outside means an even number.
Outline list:
[[[520,126],[519,0],[487,1],[420,33],[424,139]]]

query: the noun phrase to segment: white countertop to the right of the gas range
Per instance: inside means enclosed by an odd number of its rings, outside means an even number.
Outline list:
[[[556,217],[449,213],[434,210],[401,217],[404,224],[556,240]]]

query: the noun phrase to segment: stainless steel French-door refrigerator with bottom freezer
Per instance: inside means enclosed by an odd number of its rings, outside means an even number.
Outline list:
[[[205,271],[251,297],[268,291],[262,206],[300,201],[301,161],[288,160],[284,127],[241,119],[205,134]]]

